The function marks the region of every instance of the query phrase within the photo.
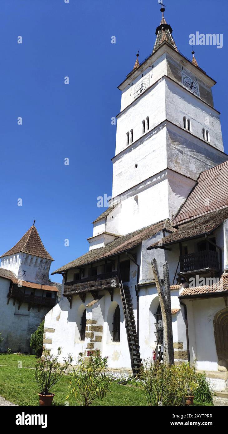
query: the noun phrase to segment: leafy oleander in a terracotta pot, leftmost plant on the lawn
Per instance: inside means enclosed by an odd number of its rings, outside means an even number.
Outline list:
[[[68,358],[63,359],[63,364],[60,364],[59,356],[61,353],[61,347],[58,348],[56,355],[50,354],[50,352],[44,350],[44,355],[36,362],[35,379],[40,391],[39,405],[52,405],[55,396],[55,394],[52,393],[52,388],[72,364],[73,359],[71,354],[68,354]]]

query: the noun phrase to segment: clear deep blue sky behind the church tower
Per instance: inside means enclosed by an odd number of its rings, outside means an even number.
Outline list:
[[[214,102],[228,152],[228,2],[164,3],[176,45],[187,57],[190,33],[223,33],[222,49],[197,46],[195,57],[218,82]],[[140,62],[152,52],[160,19],[157,0],[1,0],[1,254],[34,217],[55,259],[51,271],[88,251],[91,222],[103,211],[97,197],[111,195],[117,85],[138,49]]]

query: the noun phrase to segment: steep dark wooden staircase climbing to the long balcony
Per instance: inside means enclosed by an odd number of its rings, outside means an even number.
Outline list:
[[[133,375],[136,375],[139,373],[142,366],[142,359],[140,358],[139,339],[137,336],[134,312],[132,309],[130,289],[128,286],[123,286],[122,280],[120,281],[120,292],[124,310],[125,327],[127,331],[127,342],[130,351],[131,368]]]

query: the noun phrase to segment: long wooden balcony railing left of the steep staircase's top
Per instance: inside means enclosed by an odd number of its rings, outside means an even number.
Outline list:
[[[68,296],[78,292],[92,291],[95,289],[115,288],[119,285],[117,271],[97,276],[85,277],[75,282],[66,282],[64,285],[63,295]]]

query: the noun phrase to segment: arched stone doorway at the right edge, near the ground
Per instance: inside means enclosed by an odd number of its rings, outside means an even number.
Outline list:
[[[214,333],[218,365],[228,370],[228,307],[216,313]]]

